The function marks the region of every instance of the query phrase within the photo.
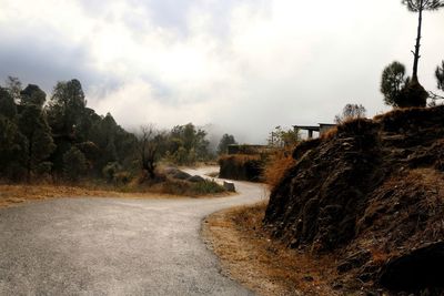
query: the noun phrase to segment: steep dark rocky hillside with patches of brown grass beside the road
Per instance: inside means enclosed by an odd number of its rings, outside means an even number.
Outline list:
[[[347,122],[293,157],[264,218],[274,237],[335,254],[344,283],[442,295],[444,106]]]

